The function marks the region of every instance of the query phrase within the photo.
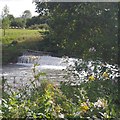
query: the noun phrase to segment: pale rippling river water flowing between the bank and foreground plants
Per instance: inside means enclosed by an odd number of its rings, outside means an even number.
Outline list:
[[[69,63],[72,63],[73,59],[69,59]],[[33,68],[36,66],[37,73],[42,72],[46,75],[41,76],[41,79],[46,79],[59,84],[60,81],[65,80],[65,73],[68,63],[65,62],[65,58],[52,57],[49,55],[23,55],[18,58],[18,62],[3,66],[2,75],[7,79],[9,85],[21,86],[23,84],[29,84],[29,80],[33,79]],[[37,74],[36,73],[36,74]]]

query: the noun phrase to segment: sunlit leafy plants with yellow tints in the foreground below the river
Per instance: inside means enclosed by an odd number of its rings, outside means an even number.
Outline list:
[[[89,68],[84,69],[89,71]],[[60,86],[47,80],[41,81],[45,73],[37,72],[36,65],[33,68],[34,79],[29,80],[29,85],[15,88],[3,79],[3,117],[43,120],[118,119],[120,102],[117,84],[110,77],[111,71],[107,71],[109,68],[103,70],[101,66],[99,70],[98,78],[88,76],[86,81],[77,85],[71,84],[73,81],[63,81]]]

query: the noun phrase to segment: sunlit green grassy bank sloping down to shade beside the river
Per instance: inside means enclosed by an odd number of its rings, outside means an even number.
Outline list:
[[[8,29],[2,41],[2,63],[16,62],[25,49],[38,50],[38,43],[42,40],[42,30]],[[3,33],[3,32],[2,32]]]

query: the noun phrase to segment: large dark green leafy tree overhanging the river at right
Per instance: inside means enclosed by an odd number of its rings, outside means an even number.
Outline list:
[[[118,3],[36,2],[36,9],[50,18],[48,51],[117,62]]]

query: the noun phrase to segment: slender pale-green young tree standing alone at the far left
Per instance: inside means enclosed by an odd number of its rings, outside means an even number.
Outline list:
[[[3,12],[2,12],[2,28],[4,30],[4,36],[5,36],[6,29],[8,29],[10,25],[8,13],[9,13],[9,9],[7,5],[5,5],[5,7],[3,8]]]

